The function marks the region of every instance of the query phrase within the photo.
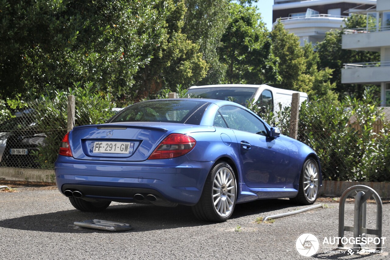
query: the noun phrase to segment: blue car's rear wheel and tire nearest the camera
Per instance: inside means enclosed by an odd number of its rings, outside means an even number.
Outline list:
[[[216,164],[207,176],[199,202],[192,206],[202,221],[224,222],[236,205],[237,182],[232,167],[226,162]]]

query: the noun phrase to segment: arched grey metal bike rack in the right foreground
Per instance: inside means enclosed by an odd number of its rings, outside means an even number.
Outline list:
[[[356,192],[355,196],[355,209],[354,209],[354,223],[353,226],[344,226],[344,206],[346,198],[351,195],[351,193]],[[366,206],[367,199],[374,197],[376,202],[376,229],[366,228]],[[377,244],[376,249],[381,250],[382,248],[382,200],[379,197],[378,193],[374,191],[371,187],[365,185],[355,185],[349,187],[340,198],[340,207],[339,207],[339,247],[343,247],[342,237],[344,237],[344,232],[349,231],[353,232],[353,237],[355,237],[355,244],[353,245],[353,251],[360,250],[360,244],[356,243],[356,238],[365,237],[367,234],[376,235],[379,237],[379,244]]]

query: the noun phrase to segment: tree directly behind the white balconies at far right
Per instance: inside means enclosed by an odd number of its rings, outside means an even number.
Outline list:
[[[335,84],[335,91],[344,96],[355,96],[361,98],[365,91],[364,85],[342,84],[341,69],[345,63],[374,62],[379,61],[379,53],[344,50],[341,48],[342,35],[344,29],[366,27],[366,16],[362,14],[353,14],[345,20],[345,26],[342,30],[331,30],[325,35],[325,39],[316,46],[320,57],[320,68],[330,68],[333,70],[331,83]]]

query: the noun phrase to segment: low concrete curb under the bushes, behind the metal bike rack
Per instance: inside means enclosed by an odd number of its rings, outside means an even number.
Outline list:
[[[323,181],[319,194],[323,196],[340,197],[346,189],[355,185],[365,185],[374,189],[381,199],[390,198],[390,183],[388,182],[344,182]]]

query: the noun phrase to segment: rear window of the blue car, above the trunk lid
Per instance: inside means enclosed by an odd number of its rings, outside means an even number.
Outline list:
[[[150,100],[135,103],[106,123],[167,122],[199,125],[208,102],[197,100]]]

